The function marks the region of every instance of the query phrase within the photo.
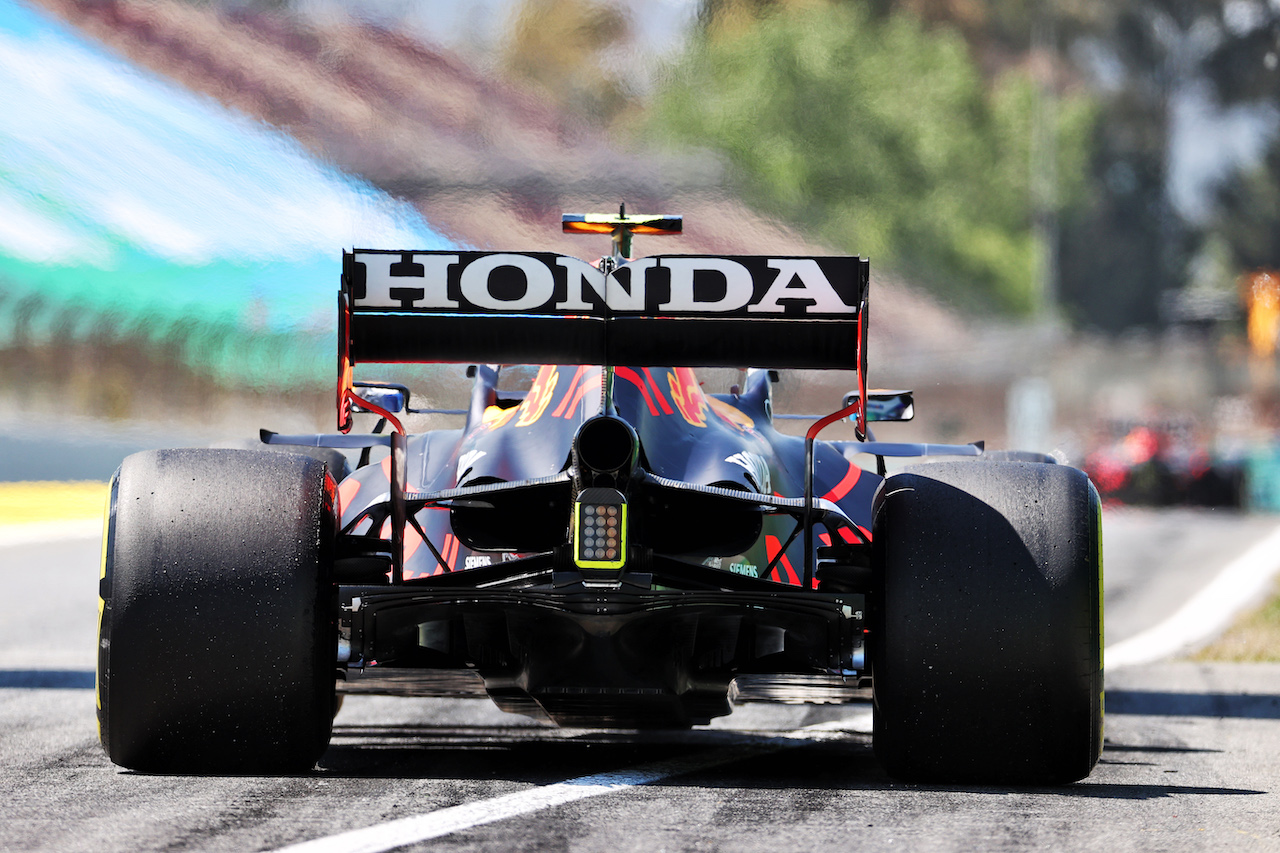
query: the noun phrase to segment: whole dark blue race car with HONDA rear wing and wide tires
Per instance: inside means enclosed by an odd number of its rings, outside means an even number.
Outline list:
[[[612,254],[346,252],[340,432],[124,460],[100,583],[110,760],[306,770],[343,693],[488,695],[622,729],[870,701],[899,779],[1087,776],[1102,724],[1088,478],[874,441],[869,423],[910,419],[914,400],[867,388],[863,259],[632,259],[632,234],[680,218],[563,227],[612,234]],[[472,365],[462,425],[407,434],[402,418],[433,410],[356,382],[366,362]],[[520,371],[499,362],[540,366],[511,389]],[[692,368],[717,366],[746,371],[707,393]],[[786,435],[774,369],[851,370],[856,388]],[[353,433],[357,416],[376,426]],[[837,419],[855,441],[817,438]],[[927,455],[951,460],[886,476],[887,456]]]

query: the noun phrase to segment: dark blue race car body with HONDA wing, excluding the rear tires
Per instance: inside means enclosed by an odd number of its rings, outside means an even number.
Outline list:
[[[623,214],[600,231],[617,242],[654,220],[680,222]],[[780,433],[767,369],[858,370],[867,261],[622,251],[595,266],[545,254],[344,256],[339,421],[381,410],[393,430],[264,434],[389,451],[338,485],[340,689],[486,693],[594,726],[704,724],[733,698],[868,695],[882,478],[854,456],[927,448]],[[530,357],[544,364],[522,396],[484,362]],[[407,389],[357,386],[365,360],[480,361],[463,425],[404,434]],[[708,365],[749,370],[714,394],[692,370]],[[860,388],[840,414],[865,435],[864,400]],[[625,514],[622,542],[600,558],[582,552],[581,514],[595,506]]]

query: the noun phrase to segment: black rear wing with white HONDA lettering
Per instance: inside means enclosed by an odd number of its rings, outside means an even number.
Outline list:
[[[860,257],[343,254],[339,368],[527,362],[856,369]]]

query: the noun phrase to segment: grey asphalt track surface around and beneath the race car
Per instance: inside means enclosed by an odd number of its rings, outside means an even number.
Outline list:
[[[1277,526],[1108,514],[1108,647]],[[120,771],[93,722],[97,548],[0,544],[0,850],[1280,850],[1280,665],[1108,669],[1102,762],[1060,788],[895,783],[861,706],[635,734],[384,697],[347,699],[312,774]]]

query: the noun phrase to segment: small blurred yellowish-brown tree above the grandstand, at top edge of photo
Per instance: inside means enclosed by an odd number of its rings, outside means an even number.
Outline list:
[[[632,99],[611,54],[626,49],[631,20],[598,0],[522,0],[502,50],[506,70],[540,87],[556,102],[607,124]]]

